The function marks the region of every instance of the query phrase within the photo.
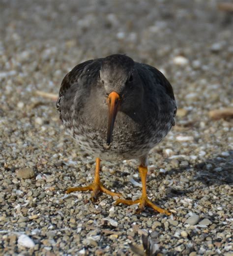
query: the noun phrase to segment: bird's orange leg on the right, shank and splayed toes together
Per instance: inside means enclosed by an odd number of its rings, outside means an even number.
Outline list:
[[[142,212],[144,210],[145,206],[149,206],[150,208],[154,209],[156,212],[171,215],[170,212],[168,212],[168,211],[156,206],[155,204],[153,204],[149,200],[149,198],[147,197],[147,194],[146,194],[147,167],[144,167],[143,165],[140,165],[139,166],[139,172],[140,172],[140,175],[141,175],[142,186],[143,186],[141,198],[139,198],[137,200],[117,199],[116,204],[119,204],[119,203],[123,203],[123,204],[127,204],[127,205],[139,204],[139,209],[137,210],[137,213]]]

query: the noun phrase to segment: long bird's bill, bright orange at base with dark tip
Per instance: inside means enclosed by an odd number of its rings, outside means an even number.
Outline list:
[[[108,133],[107,133],[107,145],[109,146],[112,142],[113,128],[115,119],[117,116],[117,111],[119,109],[120,96],[116,92],[112,92],[108,96],[109,105],[109,123],[108,123]]]

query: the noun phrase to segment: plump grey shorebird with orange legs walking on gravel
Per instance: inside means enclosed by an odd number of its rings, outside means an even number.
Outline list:
[[[63,78],[56,102],[65,130],[81,150],[95,158],[93,182],[68,188],[66,193],[92,191],[117,196],[116,205],[139,204],[170,215],[153,204],[146,192],[147,156],[175,125],[173,88],[155,67],[133,61],[125,54],[113,54],[76,65]],[[100,181],[100,161],[139,160],[142,196],[126,200],[106,189]]]

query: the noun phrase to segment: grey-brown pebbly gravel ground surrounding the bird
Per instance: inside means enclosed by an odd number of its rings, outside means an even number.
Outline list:
[[[0,1],[0,255],[132,255],[142,235],[161,255],[232,255],[232,120],[209,116],[233,107],[233,16],[218,3]],[[176,126],[150,152],[147,178],[172,216],[64,193],[91,182],[95,160],[35,92],[58,94],[76,64],[113,53],[173,85]],[[136,160],[101,164],[107,188],[140,196]]]

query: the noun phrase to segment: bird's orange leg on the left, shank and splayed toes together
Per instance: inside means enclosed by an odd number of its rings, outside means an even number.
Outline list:
[[[97,194],[99,192],[104,192],[104,193],[112,195],[112,196],[121,196],[121,194],[119,194],[119,193],[115,193],[115,192],[112,192],[112,191],[107,190],[106,188],[104,188],[104,186],[101,184],[100,178],[99,178],[100,159],[96,158],[95,163],[96,163],[96,165],[95,165],[95,176],[94,176],[93,183],[89,186],[86,186],[86,187],[68,188],[66,190],[66,193],[71,193],[71,192],[75,192],[75,191],[92,190],[92,193],[91,193],[91,200],[92,201],[94,201],[96,199]]]

